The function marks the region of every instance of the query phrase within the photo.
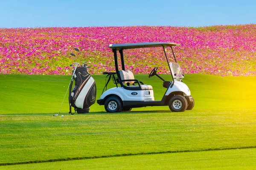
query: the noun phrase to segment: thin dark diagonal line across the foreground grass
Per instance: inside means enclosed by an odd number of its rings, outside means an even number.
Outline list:
[[[105,156],[85,156],[85,157],[75,157],[75,158],[62,158],[62,159],[49,159],[49,160],[37,160],[37,161],[25,161],[25,162],[12,162],[12,163],[0,163],[0,166],[7,165],[17,165],[17,164],[35,164],[35,163],[46,163],[46,162],[58,162],[58,161],[74,161],[83,159],[99,159],[99,158],[111,158],[111,157],[121,157],[121,156],[136,156],[136,155],[153,155],[153,154],[163,154],[163,153],[189,153],[189,152],[203,152],[212,150],[234,150],[234,149],[253,149],[256,146],[249,147],[229,147],[229,148],[210,148],[204,150],[169,150],[162,152],[148,152],[148,153],[123,153],[116,155],[105,155]]]

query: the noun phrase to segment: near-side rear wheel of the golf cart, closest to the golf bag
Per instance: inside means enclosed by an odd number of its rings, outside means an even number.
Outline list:
[[[105,110],[108,113],[121,112],[122,103],[117,97],[111,96],[105,101]]]

